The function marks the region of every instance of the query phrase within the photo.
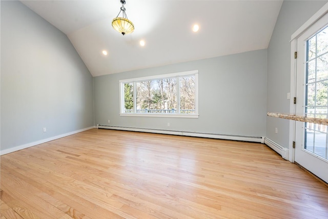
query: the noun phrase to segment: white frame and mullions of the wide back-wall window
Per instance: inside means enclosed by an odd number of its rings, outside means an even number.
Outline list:
[[[133,83],[133,93],[136,93],[136,82],[140,81],[152,81],[155,79],[165,79],[165,78],[172,78],[172,77],[179,77],[179,76],[188,76],[194,75],[195,76],[195,113],[193,114],[181,114],[178,110],[177,113],[125,113],[124,112],[124,84],[126,83]],[[178,105],[180,104],[180,80],[177,80],[177,101]],[[134,98],[136,96],[134,95]],[[134,99],[134,107],[133,109],[136,110],[136,101]],[[129,78],[129,79],[122,79],[119,80],[119,115],[120,116],[145,116],[145,117],[181,117],[181,118],[198,118],[198,70],[193,71],[184,71],[184,72],[177,72],[177,73],[170,73],[170,74],[160,74],[160,75],[153,75],[147,77],[137,77],[137,78]]]

